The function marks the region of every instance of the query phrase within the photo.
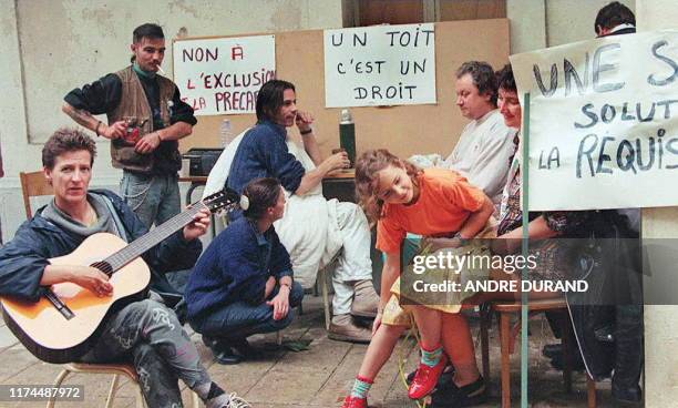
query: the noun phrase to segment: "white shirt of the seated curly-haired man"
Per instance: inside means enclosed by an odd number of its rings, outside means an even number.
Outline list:
[[[442,166],[461,173],[499,204],[506,184],[514,135],[515,130],[504,124],[499,110],[490,111],[464,128]]]

